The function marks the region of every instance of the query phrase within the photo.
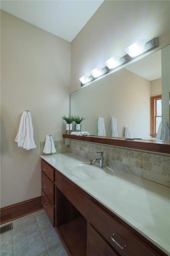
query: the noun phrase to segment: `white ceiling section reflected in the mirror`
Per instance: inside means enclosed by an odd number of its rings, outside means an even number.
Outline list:
[[[125,68],[149,81],[161,78],[161,50],[156,51]]]

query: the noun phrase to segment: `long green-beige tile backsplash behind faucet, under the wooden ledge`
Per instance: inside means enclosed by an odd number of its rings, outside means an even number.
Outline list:
[[[104,151],[105,166],[170,187],[170,156],[77,140],[70,140],[69,150],[89,160],[99,157],[97,151]]]

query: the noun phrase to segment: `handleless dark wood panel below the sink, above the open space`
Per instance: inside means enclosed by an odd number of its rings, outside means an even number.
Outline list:
[[[87,219],[87,201],[90,197],[84,190],[66,178],[59,171],[55,174],[57,188],[64,196],[77,208],[77,210]]]

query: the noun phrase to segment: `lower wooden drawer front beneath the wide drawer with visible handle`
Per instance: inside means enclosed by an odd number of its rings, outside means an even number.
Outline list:
[[[119,256],[99,232],[87,225],[87,256]]]

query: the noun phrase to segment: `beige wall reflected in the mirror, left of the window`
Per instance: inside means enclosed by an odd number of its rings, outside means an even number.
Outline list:
[[[97,135],[97,121],[104,117],[106,136],[116,116],[119,136],[129,127],[133,138],[150,138],[150,82],[121,69],[71,94],[71,114],[86,118],[82,130]]]

